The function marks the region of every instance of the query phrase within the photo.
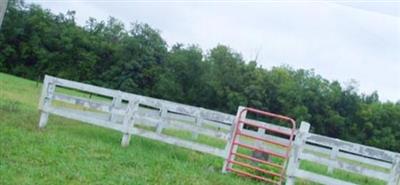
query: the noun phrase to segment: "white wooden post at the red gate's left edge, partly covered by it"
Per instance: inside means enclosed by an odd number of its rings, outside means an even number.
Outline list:
[[[238,107],[238,111],[236,113],[236,118],[233,121],[232,126],[231,126],[231,131],[230,131],[231,133],[229,134],[229,139],[228,139],[228,142],[226,143],[226,146],[225,146],[225,156],[226,157],[225,157],[225,160],[224,160],[224,165],[222,167],[222,173],[226,173],[227,172],[227,168],[232,168],[232,163],[228,162],[230,160],[233,160],[232,159],[232,155],[230,155],[230,149],[231,149],[231,147],[233,147],[232,152],[236,152],[237,148],[238,148],[237,145],[233,145],[233,143],[235,142],[234,141],[235,140],[234,135],[235,135],[235,132],[236,132],[236,124],[240,124],[239,120],[241,118],[239,116],[240,116],[240,112],[242,112],[243,109],[245,109],[245,107],[242,107],[242,106]],[[243,118],[246,118],[246,113],[247,112],[242,114]],[[239,129],[240,130],[243,129],[243,124],[241,125],[241,127]]]

